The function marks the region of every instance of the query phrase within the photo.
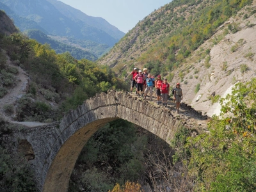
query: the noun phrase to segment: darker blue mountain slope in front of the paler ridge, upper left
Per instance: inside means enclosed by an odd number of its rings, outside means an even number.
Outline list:
[[[66,6],[64,3],[51,1],[54,3],[51,4],[47,0],[0,0],[0,2],[6,4],[17,15],[35,21],[51,35],[73,36],[77,39],[92,40],[109,46],[113,46],[118,42],[117,38],[102,31],[102,29],[90,26],[81,20],[81,15],[84,15],[84,17],[87,15],[70,6]],[[65,10],[62,10],[58,6],[59,4]],[[72,13],[73,16],[70,17],[70,14],[64,15],[67,12]],[[77,18],[76,15],[80,15],[80,18]],[[87,18],[89,19],[90,17]],[[15,24],[18,27],[20,25],[16,21]],[[111,25],[109,24],[109,26]]]

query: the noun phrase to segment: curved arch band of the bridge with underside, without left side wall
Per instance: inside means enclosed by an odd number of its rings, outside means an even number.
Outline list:
[[[89,138],[108,122],[122,118],[156,134],[164,141],[173,138],[186,122],[175,118],[168,109],[159,108],[111,91],[84,101],[61,120],[44,150],[44,165],[40,173],[42,191],[67,191],[77,157]]]

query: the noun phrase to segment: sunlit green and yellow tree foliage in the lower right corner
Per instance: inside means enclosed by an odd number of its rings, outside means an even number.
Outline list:
[[[237,83],[221,99],[222,116],[209,122],[209,134],[188,140],[190,174],[198,191],[255,191],[256,81]]]

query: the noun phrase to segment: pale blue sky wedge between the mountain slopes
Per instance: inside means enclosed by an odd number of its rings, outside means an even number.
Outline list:
[[[86,15],[102,17],[127,33],[147,15],[172,0],[58,0]]]

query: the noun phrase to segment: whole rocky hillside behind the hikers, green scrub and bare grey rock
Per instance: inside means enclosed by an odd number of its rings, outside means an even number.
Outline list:
[[[181,83],[183,101],[196,110],[219,114],[218,99],[238,81],[256,77],[256,1],[244,2],[172,1],[139,22],[98,63],[124,78],[132,67],[147,67],[173,87]]]

